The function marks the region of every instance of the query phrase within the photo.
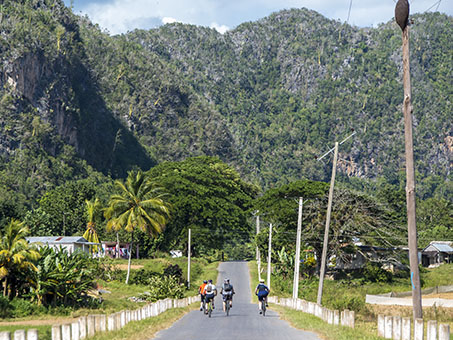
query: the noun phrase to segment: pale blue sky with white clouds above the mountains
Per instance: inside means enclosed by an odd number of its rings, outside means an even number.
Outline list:
[[[220,33],[273,12],[308,8],[359,27],[393,19],[396,0],[64,0],[74,13],[88,15],[110,34],[151,29],[173,22],[215,28]],[[410,12],[453,16],[453,0],[410,0]],[[350,11],[349,11],[350,8]]]

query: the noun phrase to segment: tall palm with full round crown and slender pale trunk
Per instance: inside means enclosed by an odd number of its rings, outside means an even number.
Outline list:
[[[105,210],[107,230],[124,229],[131,233],[126,284],[131,270],[131,250],[134,230],[139,228],[150,236],[161,233],[169,218],[169,204],[162,200],[163,194],[149,175],[142,171],[130,171],[126,183],[115,181],[119,194],[110,197]]]

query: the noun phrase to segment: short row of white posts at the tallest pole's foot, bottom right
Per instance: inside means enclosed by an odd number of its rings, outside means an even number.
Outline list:
[[[378,315],[378,335],[386,339],[411,340],[411,318],[401,316]],[[424,340],[423,319],[415,319],[414,340]],[[426,340],[450,340],[450,326],[437,325],[437,321],[428,321],[426,324]]]

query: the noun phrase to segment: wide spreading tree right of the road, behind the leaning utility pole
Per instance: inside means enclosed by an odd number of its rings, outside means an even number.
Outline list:
[[[327,184],[299,181],[267,191],[255,203],[263,219],[273,222],[273,249],[285,247],[294,254],[297,229],[297,201],[308,199],[303,208],[302,243],[321,257],[327,211]],[[375,198],[345,188],[334,191],[329,232],[328,258],[331,255],[348,261],[357,249],[355,243],[392,248],[404,243],[405,228],[395,221],[394,214]],[[258,236],[263,251],[267,249],[267,230]],[[274,256],[276,256],[275,254]],[[277,257],[277,256],[276,256]],[[317,263],[318,268],[320,263]]]

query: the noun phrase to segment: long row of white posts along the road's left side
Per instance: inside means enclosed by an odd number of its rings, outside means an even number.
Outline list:
[[[159,300],[136,310],[123,310],[110,315],[96,314],[82,316],[77,321],[52,326],[52,340],[82,340],[98,332],[116,331],[129,322],[141,321],[157,316],[171,308],[186,307],[195,301],[198,296],[184,299]],[[0,340],[38,340],[36,329],[17,330],[11,336],[10,332],[0,332]]]

